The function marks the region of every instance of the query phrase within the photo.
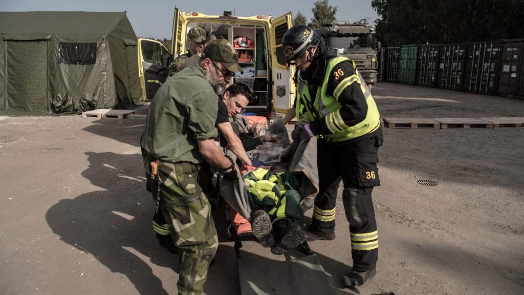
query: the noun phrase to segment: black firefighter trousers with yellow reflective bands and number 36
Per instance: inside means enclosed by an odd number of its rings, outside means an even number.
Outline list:
[[[371,194],[373,187],[380,185],[377,152],[382,141],[381,134],[344,144],[318,141],[319,193],[310,230],[320,235],[334,233],[336,197],[342,180],[356,271],[375,269],[378,259],[378,231]]]

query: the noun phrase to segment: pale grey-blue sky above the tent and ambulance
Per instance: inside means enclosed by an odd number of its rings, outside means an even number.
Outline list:
[[[224,10],[231,10],[236,11],[237,16],[272,15],[278,17],[289,11],[294,16],[300,11],[309,22],[313,17],[311,9],[314,2],[315,0],[0,0],[0,11],[126,11],[127,18],[138,37],[170,39],[175,5],[182,11],[208,15],[222,15]],[[338,20],[356,22],[362,18],[370,18],[368,23],[373,23],[378,18],[377,13],[371,7],[371,0],[330,0],[329,4],[338,7],[336,13]]]

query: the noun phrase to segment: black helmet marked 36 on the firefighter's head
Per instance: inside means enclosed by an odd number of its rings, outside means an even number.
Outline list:
[[[318,46],[320,36],[306,25],[294,25],[282,37],[282,48],[288,62],[297,59],[305,50]]]

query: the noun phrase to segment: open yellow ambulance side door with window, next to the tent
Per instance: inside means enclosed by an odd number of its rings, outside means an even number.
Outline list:
[[[138,38],[138,75],[146,100],[151,100],[166,81],[171,61],[171,53],[161,42]]]

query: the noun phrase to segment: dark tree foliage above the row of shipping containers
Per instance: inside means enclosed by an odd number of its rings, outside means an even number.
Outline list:
[[[385,46],[524,37],[524,0],[373,0]]]

